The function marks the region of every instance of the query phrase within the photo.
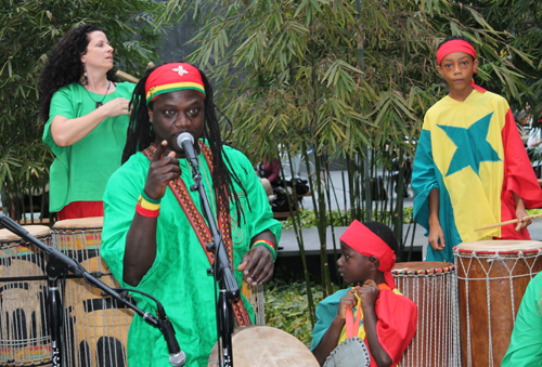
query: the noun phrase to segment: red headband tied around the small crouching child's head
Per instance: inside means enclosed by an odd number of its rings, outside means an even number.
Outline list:
[[[340,236],[340,240],[364,257],[377,258],[378,270],[384,273],[384,280],[389,288],[397,288],[391,275],[391,270],[396,264],[396,253],[380,237],[354,220]]]

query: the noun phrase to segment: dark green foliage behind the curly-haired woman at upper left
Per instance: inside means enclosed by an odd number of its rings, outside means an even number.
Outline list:
[[[139,75],[155,56],[153,0],[4,0],[0,5],[0,187],[7,195],[49,182],[50,149],[41,142],[38,79],[51,47],[85,23],[104,29],[116,65]]]

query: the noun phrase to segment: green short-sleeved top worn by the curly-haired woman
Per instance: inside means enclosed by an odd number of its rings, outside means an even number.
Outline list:
[[[104,119],[87,136],[69,146],[59,146],[51,135],[55,116],[74,119],[95,109],[95,102],[107,103],[118,97],[131,100],[136,84],[117,83],[107,95],[88,92],[81,84],[72,83],[57,90],[51,100],[43,143],[55,158],[50,174],[50,210],[60,211],[73,201],[101,201],[107,180],[120,167],[126,145],[128,115]]]

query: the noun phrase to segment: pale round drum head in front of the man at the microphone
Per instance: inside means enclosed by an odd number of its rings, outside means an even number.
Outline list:
[[[289,333],[267,326],[235,329],[232,337],[235,367],[319,367],[310,350]],[[218,366],[217,345],[208,367]]]

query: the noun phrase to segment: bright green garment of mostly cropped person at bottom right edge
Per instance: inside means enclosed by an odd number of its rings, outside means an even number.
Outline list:
[[[529,281],[502,367],[542,366],[542,273]]]

